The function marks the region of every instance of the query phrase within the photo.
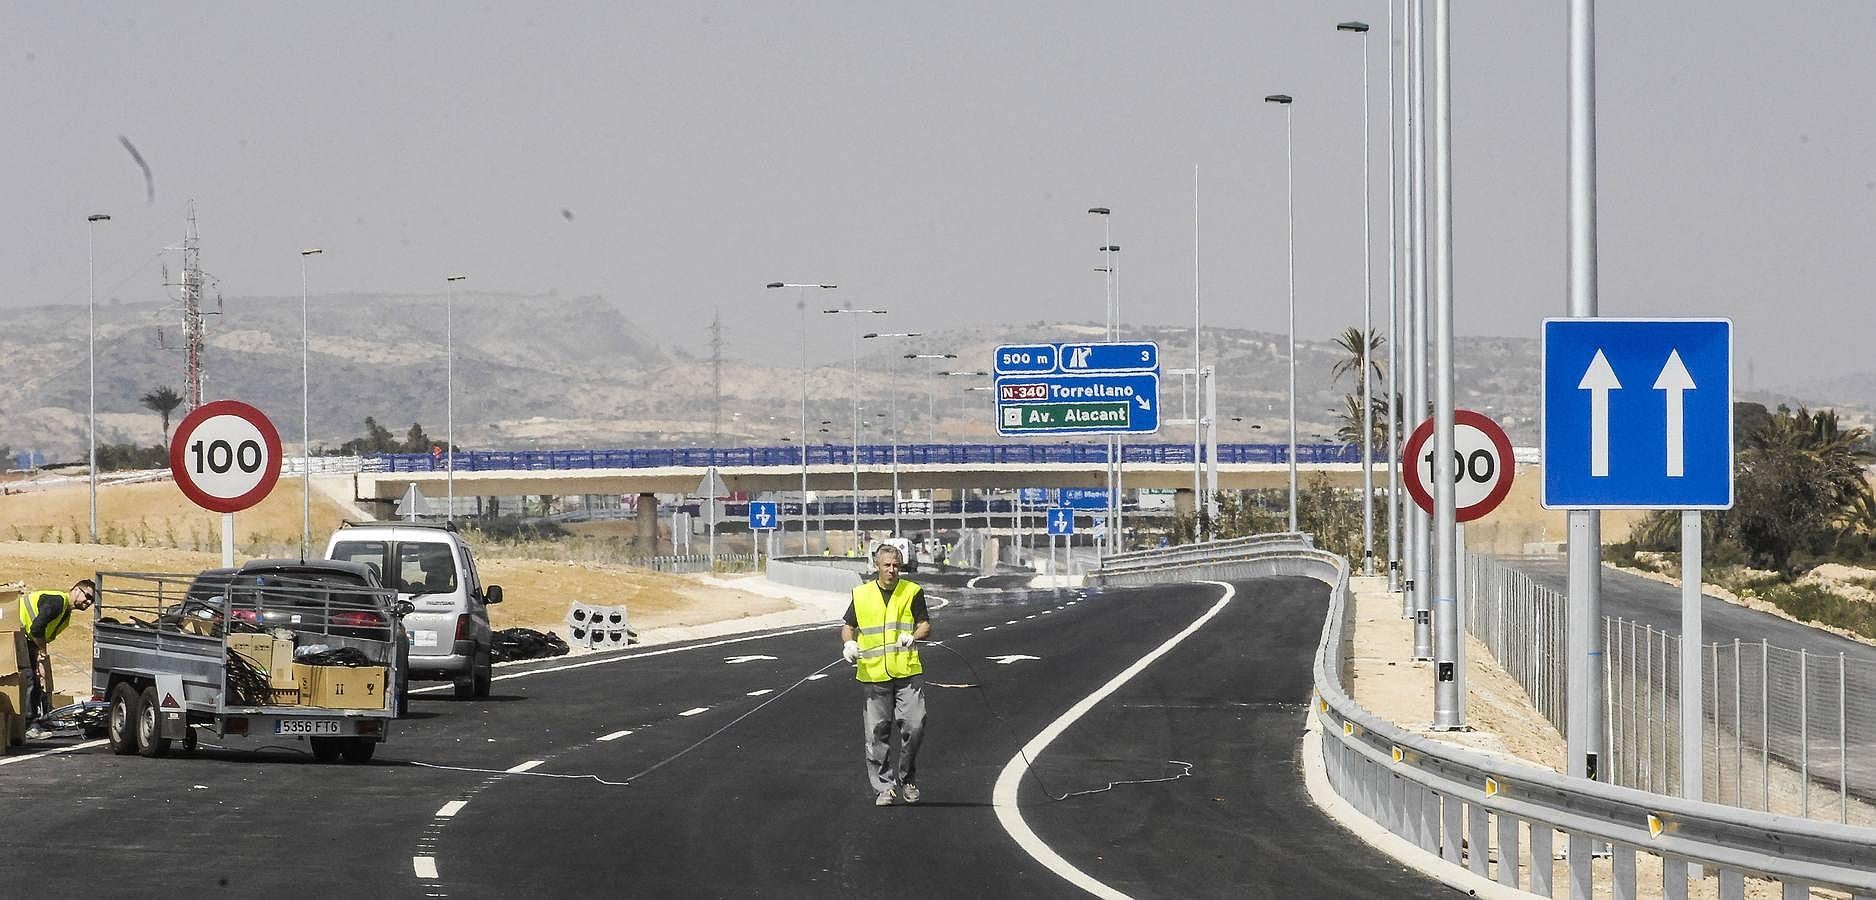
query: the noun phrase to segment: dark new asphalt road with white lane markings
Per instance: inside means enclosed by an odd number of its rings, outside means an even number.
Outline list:
[[[420,694],[371,765],[4,758],[0,894],[1084,896],[1060,866],[1133,896],[1446,894],[1304,793],[1321,583],[932,592],[917,806],[872,806],[859,690],[812,626]],[[992,806],[1019,748],[1214,611],[1039,752],[1004,810],[1019,844]]]

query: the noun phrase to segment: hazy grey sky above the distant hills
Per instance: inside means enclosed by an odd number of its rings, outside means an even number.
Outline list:
[[[1452,6],[1460,330],[1536,336],[1565,309],[1566,4]],[[792,360],[794,298],[765,281],[837,281],[809,302],[884,306],[869,324],[889,330],[1099,321],[1086,208],[1111,206],[1124,319],[1189,322],[1197,165],[1206,319],[1279,330],[1283,118],[1263,96],[1285,92],[1298,330],[1326,338],[1362,296],[1345,19],[1375,28],[1384,326],[1377,0],[15,0],[0,309],[84,302],[90,212],[114,219],[99,296],[159,298],[193,199],[229,298],[296,296],[317,246],[313,294],[465,272],[604,294],[692,352],[720,308],[732,352]],[[1596,24],[1602,311],[1730,315],[1741,381],[1876,369],[1876,4],[1602,2]],[[831,324],[818,356],[844,354]]]

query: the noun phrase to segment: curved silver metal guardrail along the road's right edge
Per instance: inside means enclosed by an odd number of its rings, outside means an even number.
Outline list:
[[[1636,855],[1660,859],[1662,894],[1685,898],[1692,866],[1718,876],[1718,896],[1739,900],[1745,879],[1876,898],[1876,829],[1792,819],[1713,802],[1572,778],[1488,758],[1381,720],[1343,690],[1349,564],[1302,542],[1266,540],[1135,553],[1101,583],[1144,585],[1193,578],[1308,576],[1330,585],[1315,652],[1315,703],[1330,786],[1351,806],[1445,862],[1501,885],[1551,896],[1551,846],[1563,832],[1570,896],[1591,896],[1598,848],[1610,853],[1615,896],[1636,896]],[[1214,551],[1208,559],[1204,553]],[[1159,557],[1154,566],[1146,557]],[[1236,572],[1242,572],[1234,576]],[[1493,861],[1495,866],[1493,866]]]

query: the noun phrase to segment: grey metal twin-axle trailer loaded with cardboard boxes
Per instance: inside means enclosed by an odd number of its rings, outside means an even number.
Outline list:
[[[306,739],[319,761],[364,763],[390,735],[398,709],[388,686],[401,684],[392,591],[293,578],[253,583],[225,572],[214,579],[99,572],[96,581],[92,692],[109,701],[114,754],[159,758],[178,746],[193,752],[206,731]],[[251,666],[231,662],[236,634],[291,639],[296,658],[300,649],[356,651],[349,656],[383,668],[379,690],[345,709],[304,705],[313,698],[283,703],[295,694],[257,686]],[[266,664],[261,668],[265,677]]]

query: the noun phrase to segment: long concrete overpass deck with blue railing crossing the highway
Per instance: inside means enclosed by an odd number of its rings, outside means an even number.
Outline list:
[[[1191,444],[1124,444],[1124,488],[1178,491],[1176,504],[1191,502]],[[1203,452],[1201,452],[1203,465]],[[1354,444],[1298,444],[1302,476],[1326,472],[1334,484],[1362,484],[1362,448]],[[715,467],[728,491],[779,493],[799,501],[803,474],[810,493],[846,495],[893,491],[925,495],[925,501],[962,497],[964,491],[1019,488],[1105,488],[1107,446],[1079,442],[1009,444],[816,444],[747,448],[658,450],[460,450],[456,452],[458,497],[520,495],[675,495],[696,497]],[[1386,461],[1375,459],[1377,478]],[[431,454],[379,454],[362,459],[355,478],[358,501],[394,502],[411,488],[426,499],[446,495],[446,467]],[[1287,444],[1218,444],[1221,489],[1285,488]],[[936,491],[936,493],[934,493]],[[882,499],[887,508],[889,497]],[[865,501],[863,501],[865,504]],[[833,510],[827,510],[833,514]]]

